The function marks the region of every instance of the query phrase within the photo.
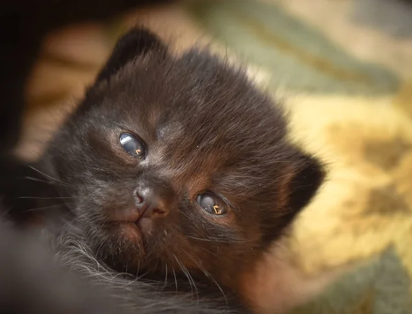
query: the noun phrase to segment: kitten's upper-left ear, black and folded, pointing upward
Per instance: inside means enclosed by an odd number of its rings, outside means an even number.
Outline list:
[[[96,83],[107,80],[117,71],[122,69],[126,63],[134,60],[138,56],[147,53],[159,53],[167,55],[168,49],[161,40],[148,29],[134,28],[128,31],[117,41],[110,58],[100,71]]]

